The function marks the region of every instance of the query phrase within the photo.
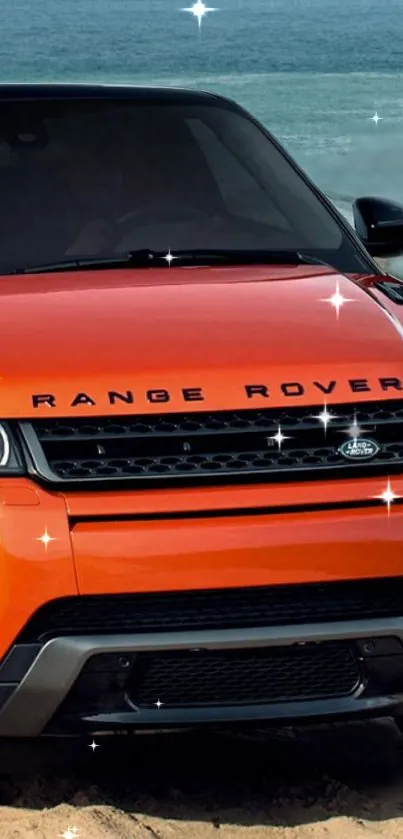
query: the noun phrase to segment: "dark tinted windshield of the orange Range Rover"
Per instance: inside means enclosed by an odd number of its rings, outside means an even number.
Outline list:
[[[139,248],[365,264],[270,138],[219,100],[3,102],[0,194],[3,272]]]

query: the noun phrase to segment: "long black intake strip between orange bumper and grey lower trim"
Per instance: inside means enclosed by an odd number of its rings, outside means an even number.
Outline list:
[[[403,615],[403,577],[65,597],[41,606],[19,643],[60,635],[236,629]]]

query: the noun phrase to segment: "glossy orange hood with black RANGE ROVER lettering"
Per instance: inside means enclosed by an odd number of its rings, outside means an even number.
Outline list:
[[[393,398],[403,331],[358,279],[312,266],[2,277],[1,416]]]

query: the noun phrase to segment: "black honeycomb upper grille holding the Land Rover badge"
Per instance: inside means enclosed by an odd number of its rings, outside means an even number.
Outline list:
[[[334,405],[325,432],[310,408],[221,411],[49,419],[24,423],[26,442],[37,471],[54,482],[147,479],[249,480],[265,475],[290,480],[293,475],[345,474],[357,468],[402,468],[403,400]],[[351,463],[338,452],[356,421],[380,446],[369,463]],[[273,439],[279,428],[287,439]],[[39,447],[38,447],[39,442]]]

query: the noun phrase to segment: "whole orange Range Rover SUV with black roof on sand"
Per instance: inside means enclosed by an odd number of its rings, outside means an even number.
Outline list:
[[[0,735],[399,722],[403,208],[213,94],[0,101]]]

